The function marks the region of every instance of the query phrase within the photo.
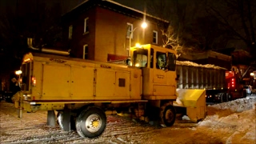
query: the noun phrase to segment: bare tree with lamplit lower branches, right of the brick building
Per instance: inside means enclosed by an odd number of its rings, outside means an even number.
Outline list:
[[[194,28],[193,23],[202,10],[202,2],[186,2],[182,0],[150,0],[147,3],[148,12],[158,18],[170,22],[168,29],[161,30],[163,47],[171,48],[179,52],[186,52],[193,47],[190,31]]]

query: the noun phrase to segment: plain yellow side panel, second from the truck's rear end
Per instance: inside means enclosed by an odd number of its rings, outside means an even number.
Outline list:
[[[94,67],[71,67],[71,96],[80,100],[94,98]]]

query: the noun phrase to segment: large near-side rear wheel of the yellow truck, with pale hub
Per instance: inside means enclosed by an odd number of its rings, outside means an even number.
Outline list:
[[[106,129],[106,114],[95,106],[82,110],[76,120],[76,129],[83,138],[95,138]]]

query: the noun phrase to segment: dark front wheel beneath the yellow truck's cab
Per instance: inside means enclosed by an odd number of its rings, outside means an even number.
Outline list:
[[[172,105],[164,105],[161,107],[161,124],[165,126],[173,126],[176,118],[176,110]]]

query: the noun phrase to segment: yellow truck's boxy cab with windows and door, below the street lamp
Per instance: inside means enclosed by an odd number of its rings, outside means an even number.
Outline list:
[[[176,51],[147,44],[130,52],[130,66],[142,69],[142,98],[176,99]]]

